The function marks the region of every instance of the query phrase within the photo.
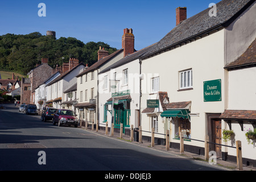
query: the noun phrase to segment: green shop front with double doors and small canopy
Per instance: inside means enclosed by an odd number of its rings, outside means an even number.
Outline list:
[[[114,102],[113,102],[114,101]],[[120,124],[123,124],[123,133],[125,133],[125,127],[130,127],[130,102],[131,96],[129,90],[126,92],[113,93],[112,98],[104,105],[104,122],[108,121],[108,114],[112,116],[113,106],[113,123],[114,128],[120,128]],[[111,121],[109,121],[111,123]]]

